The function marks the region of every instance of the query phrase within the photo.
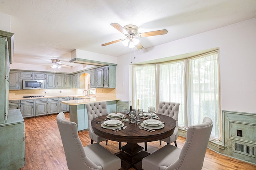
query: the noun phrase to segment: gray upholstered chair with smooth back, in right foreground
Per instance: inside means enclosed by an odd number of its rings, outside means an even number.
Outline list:
[[[143,158],[142,168],[144,170],[201,170],[212,126],[212,120],[205,117],[202,124],[188,127],[182,149],[165,145]]]

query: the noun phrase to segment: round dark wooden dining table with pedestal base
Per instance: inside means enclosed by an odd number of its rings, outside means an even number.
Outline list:
[[[115,155],[121,158],[121,166],[125,170],[135,168],[136,170],[142,170],[142,159],[148,156],[150,153],[143,151],[143,147],[138,145],[141,142],[158,141],[165,139],[173,134],[176,127],[176,121],[165,115],[157,114],[159,121],[166,122],[162,129],[156,129],[153,132],[145,131],[139,128],[140,124],[130,124],[129,121],[124,123],[127,126],[126,129],[114,132],[112,129],[105,129],[101,127],[99,121],[104,121],[106,115],[96,117],[92,120],[92,128],[94,133],[100,137],[104,137],[111,141],[125,142],[126,145],[121,147],[121,151]],[[144,119],[140,119],[142,122]]]

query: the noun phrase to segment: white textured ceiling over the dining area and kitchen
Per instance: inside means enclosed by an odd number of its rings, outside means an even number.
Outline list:
[[[74,49],[130,53],[121,42],[101,46],[125,38],[110,23],[168,30],[139,38],[146,49],[254,18],[256,0],[0,0],[0,13],[11,16],[14,62],[34,64],[69,61]]]

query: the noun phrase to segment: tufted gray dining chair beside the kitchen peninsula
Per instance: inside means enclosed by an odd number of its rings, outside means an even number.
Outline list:
[[[89,131],[89,136],[91,138],[91,144],[93,141],[96,143],[100,143],[102,141],[106,141],[106,145],[108,145],[108,139],[102,138],[98,135],[96,135],[92,129],[92,119],[95,117],[99,117],[102,115],[108,115],[108,110],[107,110],[107,103],[106,102],[95,102],[95,103],[90,103],[86,104],[86,109],[87,109],[87,114],[88,114],[88,131]]]

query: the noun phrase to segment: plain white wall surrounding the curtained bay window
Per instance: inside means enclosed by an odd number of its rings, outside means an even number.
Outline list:
[[[136,59],[130,54],[118,57],[116,97],[132,100],[131,59],[134,64],[216,47],[220,48],[221,109],[256,113],[256,18],[137,51]]]

